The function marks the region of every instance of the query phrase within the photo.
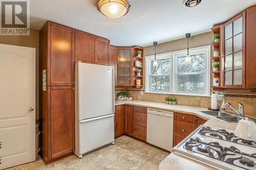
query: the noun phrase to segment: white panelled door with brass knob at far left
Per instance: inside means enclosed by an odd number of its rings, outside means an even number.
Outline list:
[[[0,44],[0,169],[35,160],[32,108],[35,48]]]

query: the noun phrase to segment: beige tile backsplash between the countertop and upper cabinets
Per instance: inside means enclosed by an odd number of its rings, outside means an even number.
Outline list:
[[[115,96],[117,100],[117,92],[125,91],[122,89],[115,90]],[[165,103],[165,98],[167,96],[173,96],[177,99],[177,105],[186,105],[186,106],[196,106],[209,108],[211,105],[211,98],[205,96],[191,96],[191,95],[170,95],[170,94],[156,94],[156,93],[145,93],[140,95],[140,90],[126,90],[129,92],[129,96],[133,100],[142,100],[150,102],[160,102]],[[237,95],[237,94],[225,94],[225,102],[230,103],[232,106],[238,109],[237,102],[244,104],[245,115],[256,114],[256,95]],[[218,101],[218,105],[221,107],[222,101]],[[231,111],[230,108],[227,110]]]

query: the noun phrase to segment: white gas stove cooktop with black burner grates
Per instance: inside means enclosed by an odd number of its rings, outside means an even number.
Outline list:
[[[221,169],[255,169],[256,144],[233,131],[200,126],[172,152]]]

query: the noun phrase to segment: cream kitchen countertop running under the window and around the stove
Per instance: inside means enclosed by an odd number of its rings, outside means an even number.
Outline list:
[[[180,113],[187,113],[187,114],[194,114],[196,116],[199,116],[203,119],[206,119],[207,122],[204,124],[205,126],[212,126],[217,127],[221,129],[229,129],[229,130],[236,130],[238,123],[228,123],[224,122],[220,119],[217,119],[215,117],[209,116],[207,114],[204,114],[200,111],[208,110],[207,108],[202,107],[193,107],[193,106],[183,106],[183,105],[168,105],[165,103],[158,103],[158,102],[147,102],[147,101],[115,101],[115,106],[118,105],[134,105],[134,106],[143,106],[147,108],[153,108],[153,109],[159,109],[159,110],[166,110],[166,111],[174,111],[174,112],[180,112]],[[255,118],[254,115],[246,115],[252,118]],[[175,160],[179,160],[179,162],[176,163],[169,163]],[[166,163],[164,162],[166,161]],[[213,167],[210,167],[208,165],[205,165],[203,163],[191,160],[189,158],[180,156],[175,153],[171,153],[168,155],[162,163],[159,165],[159,169],[161,170],[167,170],[167,169],[216,169]]]

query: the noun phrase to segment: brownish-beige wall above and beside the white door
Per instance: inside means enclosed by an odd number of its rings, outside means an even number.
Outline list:
[[[18,46],[28,46],[36,48],[35,62],[36,62],[36,118],[39,116],[39,31],[30,29],[30,35],[15,35],[15,36],[0,36],[0,43],[2,44],[10,44],[10,45],[18,45]]]

